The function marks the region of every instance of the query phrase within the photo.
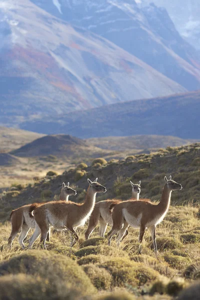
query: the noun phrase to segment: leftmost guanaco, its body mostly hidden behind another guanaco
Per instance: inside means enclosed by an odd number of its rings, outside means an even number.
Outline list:
[[[76,191],[69,186],[69,182],[65,185],[62,183],[62,189],[59,194],[59,200],[68,201],[68,197],[70,195],[76,195]],[[39,205],[43,205],[43,203],[38,203]],[[31,204],[23,205],[19,208],[16,208],[10,213],[10,222],[11,222],[11,233],[8,238],[8,245],[11,247],[12,241],[17,235],[17,233],[21,229],[21,233],[18,238],[18,242],[21,245],[22,249],[25,248],[23,243],[24,238],[26,237],[30,228],[35,228],[35,221],[32,217],[29,216],[29,208]],[[47,240],[50,238],[50,230],[47,234]]]

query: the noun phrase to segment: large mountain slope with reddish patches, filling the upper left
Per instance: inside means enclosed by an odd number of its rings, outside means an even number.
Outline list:
[[[0,19],[1,125],[185,91],[107,39],[29,0],[0,1]]]

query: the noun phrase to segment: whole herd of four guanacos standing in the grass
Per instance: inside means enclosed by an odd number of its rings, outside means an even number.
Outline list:
[[[83,203],[76,203],[68,200],[69,195],[75,195],[76,191],[62,183],[59,200],[45,203],[33,203],[23,205],[12,210],[10,214],[11,233],[8,238],[8,245],[11,247],[12,241],[19,231],[18,242],[22,248],[23,243],[30,228],[35,228],[29,239],[28,248],[40,236],[40,242],[46,249],[45,241],[49,241],[50,228],[58,231],[69,231],[71,233],[71,246],[78,240],[76,228],[88,221],[85,231],[85,239],[88,239],[93,229],[99,223],[99,235],[104,237],[107,224],[111,225],[107,233],[108,245],[111,238],[116,234],[116,243],[119,246],[123,238],[128,234],[128,227],[139,228],[139,243],[141,245],[145,228],[150,229],[153,248],[157,254],[155,228],[167,213],[170,204],[172,190],[182,189],[182,185],[175,182],[169,176],[164,177],[165,184],[162,189],[161,199],[158,204],[149,199],[140,199],[140,181],[132,186],[132,197],[126,201],[118,199],[107,199],[95,203],[97,192],[106,192],[106,188],[97,182],[97,178],[92,182],[87,179],[89,186]],[[139,249],[140,249],[139,245]]]

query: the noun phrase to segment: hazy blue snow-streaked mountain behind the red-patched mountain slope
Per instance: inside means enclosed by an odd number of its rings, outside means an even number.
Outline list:
[[[139,7],[134,0],[32,2],[110,40],[187,90],[200,88],[199,53],[179,35],[166,9],[154,4]]]

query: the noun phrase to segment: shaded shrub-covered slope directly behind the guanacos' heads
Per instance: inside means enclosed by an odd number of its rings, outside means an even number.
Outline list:
[[[97,199],[129,197],[131,191],[129,180],[133,182],[141,180],[141,197],[159,199],[164,175],[171,174],[174,180],[183,186],[181,196],[173,192],[172,204],[198,202],[200,199],[199,156],[200,143],[194,143],[181,147],[167,147],[166,150],[161,149],[150,154],[127,156],[126,159],[114,159],[102,166],[96,164],[85,168],[80,165],[77,169],[70,169],[62,175],[48,179],[48,183],[45,178],[41,179],[40,182],[23,189],[16,198],[12,198],[8,193],[6,201],[13,207],[22,205],[23,201],[43,201],[44,198],[41,197],[43,189],[49,190],[47,200],[49,194],[52,198],[59,192],[62,182],[65,181],[73,183],[78,191],[77,201],[80,201],[84,197],[82,189],[87,187],[87,177],[98,177],[99,182],[107,187],[106,194],[101,195],[100,198],[97,196]],[[81,167],[84,170],[81,170]]]

